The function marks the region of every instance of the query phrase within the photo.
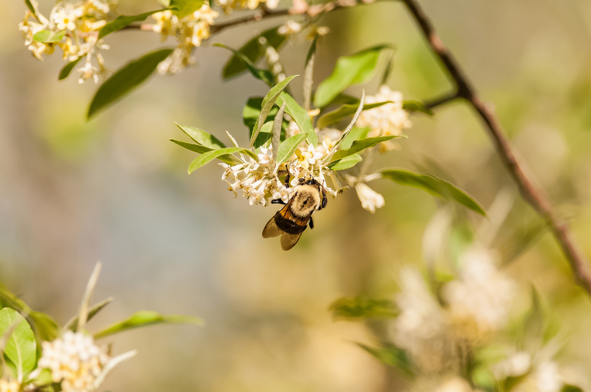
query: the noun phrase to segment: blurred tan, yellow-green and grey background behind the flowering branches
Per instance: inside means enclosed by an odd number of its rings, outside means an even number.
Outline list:
[[[51,1],[40,1],[41,11]],[[288,6],[290,4],[280,4]],[[514,145],[571,219],[591,255],[591,4],[584,0],[423,0],[441,38],[498,113]],[[158,6],[121,0],[122,14]],[[333,321],[342,296],[392,298],[401,267],[424,269],[423,231],[437,210],[424,192],[372,182],[386,205],[369,214],[355,192],[329,201],[291,251],[264,240],[275,207],[234,200],[215,164],[186,174],[193,159],[169,142],[183,138],[174,120],[246,142],[242,107],[264,95],[245,75],[224,82],[228,52],[197,50],[197,65],[156,76],[96,119],[85,122],[96,86],[57,81],[60,55],[41,62],[23,45],[19,1],[2,4],[0,24],[0,280],[34,309],[65,322],[79,306],[96,260],[103,272],[95,299],[115,296],[90,324],[110,324],[154,309],[206,320],[204,328],[157,326],[113,337],[114,352],[138,348],[105,384],[126,392],[161,390],[365,392],[400,390],[392,374],[353,344],[374,339],[366,325]],[[240,15],[238,12],[232,16]],[[265,21],[224,31],[210,42],[239,47]],[[427,99],[450,88],[404,6],[380,2],[333,12],[316,60],[315,80],[339,55],[387,41],[398,47],[389,85]],[[108,37],[116,69],[160,47],[145,31]],[[168,43],[174,45],[174,43]],[[302,73],[309,43],[282,51],[287,74]],[[365,87],[378,88],[379,77]],[[294,91],[301,89],[294,80]],[[361,86],[350,89],[360,94]],[[296,97],[298,97],[296,95]],[[431,168],[485,208],[501,189],[515,191],[474,113],[462,103],[413,116],[401,150],[378,165]],[[183,139],[184,140],[184,139]],[[473,223],[479,219],[469,215]],[[501,234],[535,223],[517,201]],[[545,234],[507,269],[534,283],[571,337],[564,361],[591,370],[591,306],[553,239]],[[525,300],[524,300],[525,301]],[[519,306],[519,305],[517,305]]]

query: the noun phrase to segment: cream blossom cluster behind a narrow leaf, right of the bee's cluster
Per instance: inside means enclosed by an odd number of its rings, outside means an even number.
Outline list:
[[[402,129],[410,128],[413,124],[408,119],[408,112],[402,109],[403,97],[401,92],[392,91],[388,86],[379,88],[379,92],[374,96],[366,96],[365,104],[387,102],[374,109],[363,110],[356,125],[364,128],[369,127],[371,131],[369,137],[402,135]],[[395,144],[385,142],[381,144],[382,151],[395,148]]]

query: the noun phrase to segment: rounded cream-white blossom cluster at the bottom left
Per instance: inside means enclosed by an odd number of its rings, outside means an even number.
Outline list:
[[[64,392],[90,392],[109,359],[92,337],[66,331],[62,338],[43,342],[38,370],[49,369],[54,383],[61,381]]]

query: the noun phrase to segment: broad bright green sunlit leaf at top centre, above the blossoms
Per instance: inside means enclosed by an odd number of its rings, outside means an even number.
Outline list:
[[[316,89],[314,105],[324,107],[347,87],[365,83],[371,79],[378,64],[379,55],[385,49],[394,49],[394,47],[390,44],[380,44],[350,56],[339,57],[332,74]]]

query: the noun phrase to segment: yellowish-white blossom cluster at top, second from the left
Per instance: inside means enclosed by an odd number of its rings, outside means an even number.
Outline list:
[[[161,34],[161,41],[164,42],[171,35],[176,37],[178,42],[173,53],[158,64],[158,73],[174,74],[195,64],[193,49],[199,47],[202,40],[209,38],[209,27],[214,23],[214,19],[219,17],[219,12],[214,11],[206,3],[197,11],[180,19],[170,9],[156,12],[152,17],[156,20],[156,24],[152,25],[152,31]]]

